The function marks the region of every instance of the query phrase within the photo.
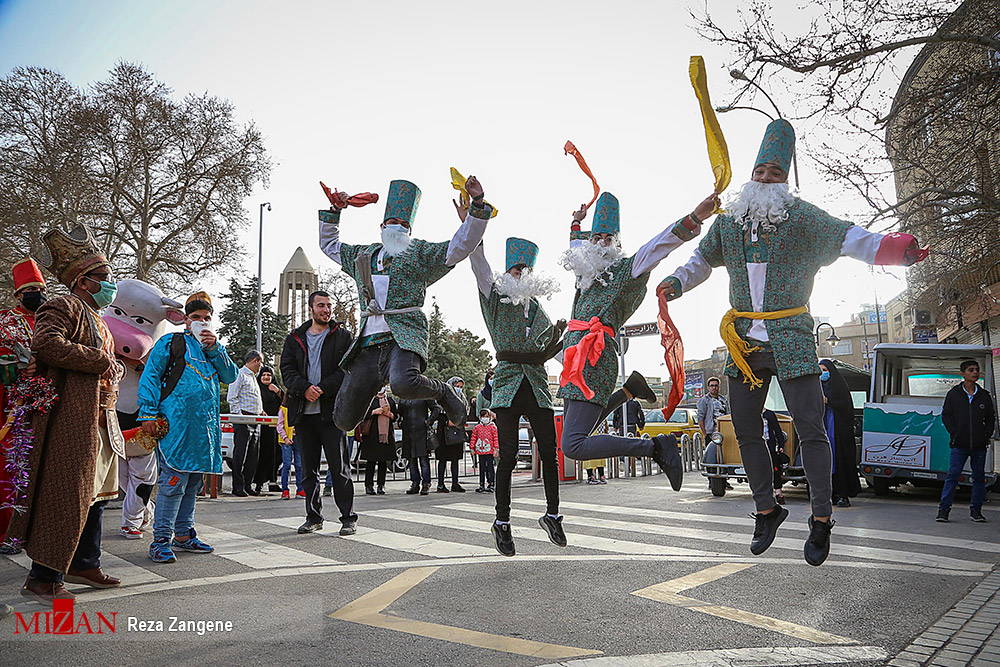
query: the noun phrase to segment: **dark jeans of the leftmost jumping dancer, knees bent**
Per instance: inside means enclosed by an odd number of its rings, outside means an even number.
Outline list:
[[[333,421],[342,431],[357,426],[378,390],[388,381],[396,398],[435,400],[452,388],[421,375],[426,363],[416,352],[403,350],[395,340],[362,348],[345,372],[333,406]]]

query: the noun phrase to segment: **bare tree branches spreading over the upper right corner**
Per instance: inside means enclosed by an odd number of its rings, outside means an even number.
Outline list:
[[[694,18],[734,69],[821,128],[800,140],[800,158],[862,203],[851,213],[930,244],[931,260],[911,273],[921,300],[947,303],[1000,280],[982,275],[1000,263],[1000,5],[811,0],[796,27],[787,8],[706,5]],[[739,85],[731,104],[753,103],[757,90]]]

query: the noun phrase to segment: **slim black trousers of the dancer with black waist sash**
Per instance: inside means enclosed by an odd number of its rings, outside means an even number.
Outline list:
[[[559,513],[559,468],[556,465],[556,425],[549,408],[538,407],[535,392],[527,378],[514,394],[509,408],[493,408],[497,415],[500,440],[500,465],[497,466],[497,521],[510,521],[510,477],[517,465],[518,430],[523,416],[531,424],[542,459],[545,505],[549,514]]]

